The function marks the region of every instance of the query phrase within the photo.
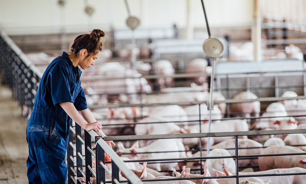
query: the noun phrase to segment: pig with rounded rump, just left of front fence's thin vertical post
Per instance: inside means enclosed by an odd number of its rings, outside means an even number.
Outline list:
[[[215,148],[211,150],[208,155],[208,157],[214,157],[214,156],[231,156],[230,153],[223,148]],[[226,158],[226,159],[206,159],[205,167],[208,167],[208,170],[211,174],[211,176],[216,176],[213,169],[216,170],[222,170],[224,167],[228,168],[229,171],[234,172],[235,171],[235,161],[233,158]]]

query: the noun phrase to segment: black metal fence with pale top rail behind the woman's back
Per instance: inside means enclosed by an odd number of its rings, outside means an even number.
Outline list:
[[[0,48],[2,82],[12,90],[13,97],[22,107],[23,115],[27,116],[32,111],[42,72],[3,31],[0,34]]]

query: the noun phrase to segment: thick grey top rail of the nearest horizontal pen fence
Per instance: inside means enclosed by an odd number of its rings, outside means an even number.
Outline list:
[[[182,133],[182,134],[159,134],[159,135],[133,135],[133,136],[106,136],[104,140],[150,140],[150,139],[175,139],[195,137],[226,137],[226,136],[258,136],[275,134],[306,133],[306,129],[293,130],[256,130],[242,132],[210,132],[210,133]]]

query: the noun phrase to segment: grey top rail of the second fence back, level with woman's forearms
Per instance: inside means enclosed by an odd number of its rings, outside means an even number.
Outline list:
[[[214,104],[218,103],[243,103],[243,102],[276,102],[281,100],[299,100],[306,99],[306,96],[297,97],[261,97],[256,99],[226,99],[216,100]],[[198,105],[198,104],[209,104],[209,100],[206,101],[194,101],[194,102],[175,102],[175,103],[151,103],[151,104],[107,104],[107,105],[91,105],[88,106],[90,109],[100,108],[116,108],[116,107],[150,107],[150,106],[162,106],[162,105]]]

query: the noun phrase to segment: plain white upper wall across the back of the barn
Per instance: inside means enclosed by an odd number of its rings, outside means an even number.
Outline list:
[[[205,27],[200,0],[191,1],[192,22]],[[66,0],[63,10],[58,0],[0,0],[0,25],[8,34],[54,33],[65,26],[68,32],[126,28],[128,17],[124,0],[88,0],[95,12],[89,18],[84,0]],[[186,26],[187,0],[128,0],[131,14],[141,26],[179,28]],[[253,0],[204,0],[211,26],[246,25],[252,22]],[[63,13],[64,12],[64,13]]]

